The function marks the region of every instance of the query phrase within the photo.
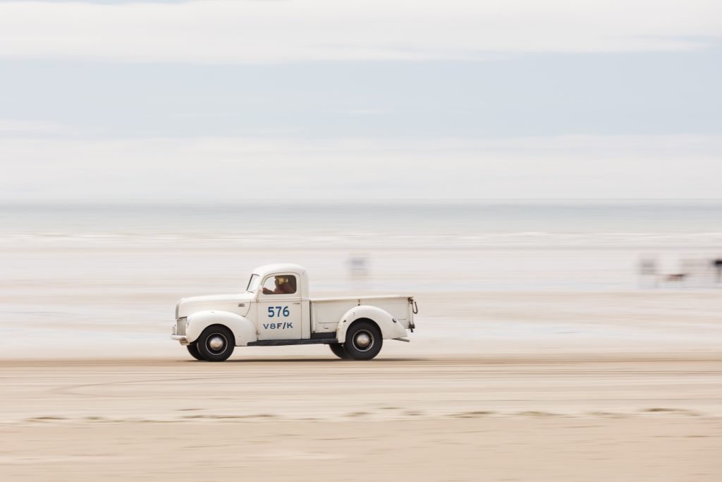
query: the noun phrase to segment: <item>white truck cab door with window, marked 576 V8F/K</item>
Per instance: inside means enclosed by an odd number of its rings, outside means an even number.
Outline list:
[[[301,339],[301,291],[296,275],[275,273],[258,293],[258,340]]]

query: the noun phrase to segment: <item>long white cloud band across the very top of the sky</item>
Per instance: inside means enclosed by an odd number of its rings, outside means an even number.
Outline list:
[[[477,60],[677,51],[722,38],[710,0],[0,3],[0,56],[129,62]]]

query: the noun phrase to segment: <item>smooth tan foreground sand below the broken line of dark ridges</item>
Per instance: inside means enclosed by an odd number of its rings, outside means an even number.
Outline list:
[[[4,476],[58,480],[718,481],[705,418],[67,424],[3,429]]]

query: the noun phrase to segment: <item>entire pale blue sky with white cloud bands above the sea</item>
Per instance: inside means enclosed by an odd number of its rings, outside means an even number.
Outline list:
[[[0,0],[0,201],[718,199],[721,18]]]

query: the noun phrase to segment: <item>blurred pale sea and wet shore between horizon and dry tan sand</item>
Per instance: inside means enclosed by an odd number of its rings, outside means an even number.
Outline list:
[[[394,356],[722,345],[722,202],[17,206],[0,205],[0,358],[178,353],[179,298],[238,292],[272,262],[303,264],[311,296],[416,296]]]

